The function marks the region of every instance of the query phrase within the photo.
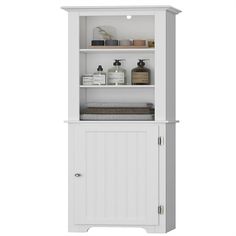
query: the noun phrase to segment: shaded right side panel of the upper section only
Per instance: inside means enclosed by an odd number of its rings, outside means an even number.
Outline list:
[[[175,15],[166,13],[166,119],[175,120]]]

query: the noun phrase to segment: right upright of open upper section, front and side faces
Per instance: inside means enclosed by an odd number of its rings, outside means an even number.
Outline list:
[[[156,100],[159,119],[175,120],[175,16],[169,12],[156,15]],[[157,116],[157,114],[156,114]]]

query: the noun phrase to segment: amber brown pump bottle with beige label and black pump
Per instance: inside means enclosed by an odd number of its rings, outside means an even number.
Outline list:
[[[131,71],[131,83],[132,85],[145,85],[150,84],[150,69],[145,67],[144,61],[147,59],[139,59],[137,63],[138,67]]]

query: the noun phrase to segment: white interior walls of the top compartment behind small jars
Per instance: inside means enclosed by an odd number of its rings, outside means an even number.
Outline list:
[[[117,39],[154,39],[154,16],[81,16],[80,48],[90,46],[93,29],[97,26],[113,26]],[[132,29],[132,30],[130,30]]]

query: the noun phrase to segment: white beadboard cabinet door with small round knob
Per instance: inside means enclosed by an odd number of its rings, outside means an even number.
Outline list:
[[[157,129],[75,126],[74,224],[158,224]]]

